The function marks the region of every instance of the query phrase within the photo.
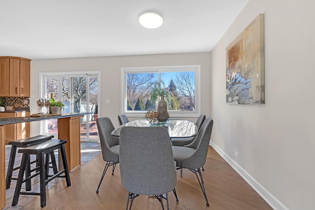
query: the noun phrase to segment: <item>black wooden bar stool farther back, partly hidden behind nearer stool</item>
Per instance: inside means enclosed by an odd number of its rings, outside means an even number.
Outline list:
[[[5,183],[6,183],[5,189],[10,188],[11,180],[17,180],[16,177],[12,177],[13,171],[20,169],[20,166],[14,168],[14,161],[15,161],[15,155],[16,155],[17,148],[31,147],[33,145],[37,145],[37,144],[46,142],[52,138],[54,138],[53,135],[38,135],[38,136],[31,137],[31,138],[21,139],[21,140],[12,141],[12,142],[8,143],[9,145],[12,145],[12,146],[11,146],[8,170],[7,170],[6,179],[5,179]],[[31,162],[31,159],[28,158],[28,163],[29,164],[27,166],[27,174],[30,174],[31,173],[31,164],[36,163],[36,160]],[[31,190],[31,182],[30,181],[26,182],[26,189]]]

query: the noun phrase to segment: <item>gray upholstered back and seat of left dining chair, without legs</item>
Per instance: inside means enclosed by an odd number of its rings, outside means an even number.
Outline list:
[[[110,149],[119,145],[119,137],[111,134],[115,129],[112,121],[107,117],[97,118],[96,125],[103,159],[107,162],[118,163],[119,154]]]

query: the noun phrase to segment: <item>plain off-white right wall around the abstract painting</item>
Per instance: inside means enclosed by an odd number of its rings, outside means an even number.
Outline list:
[[[314,2],[250,0],[211,53],[212,143],[270,193],[275,209],[315,209]],[[265,104],[227,105],[225,49],[259,13]]]

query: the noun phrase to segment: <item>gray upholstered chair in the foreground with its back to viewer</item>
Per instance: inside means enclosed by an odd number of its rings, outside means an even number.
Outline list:
[[[131,209],[138,195],[155,195],[163,207],[167,193],[175,194],[176,169],[167,129],[164,127],[123,127],[120,133],[120,174],[128,191]],[[165,197],[162,195],[166,194]]]

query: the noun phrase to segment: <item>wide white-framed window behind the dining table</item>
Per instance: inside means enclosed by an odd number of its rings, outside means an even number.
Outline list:
[[[123,67],[122,113],[144,117],[157,108],[159,98],[151,97],[154,86],[166,91],[170,117],[197,117],[200,115],[200,65]]]

